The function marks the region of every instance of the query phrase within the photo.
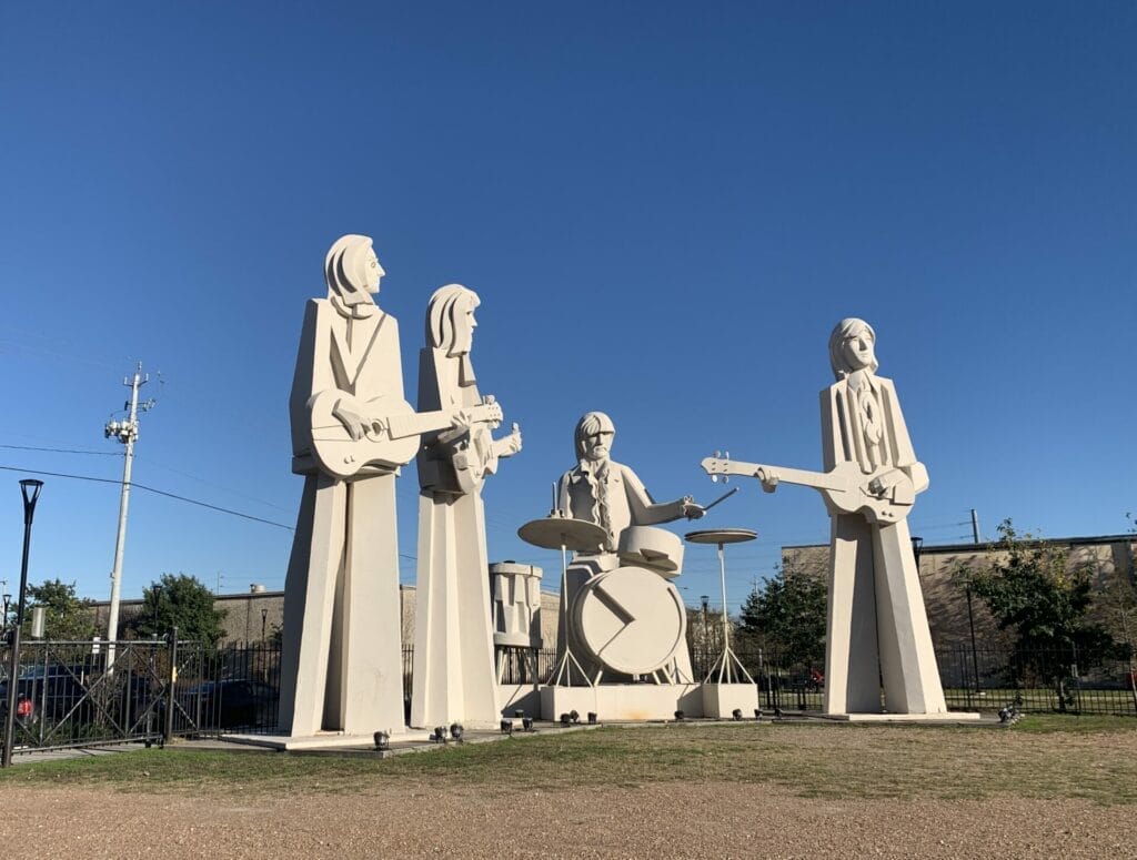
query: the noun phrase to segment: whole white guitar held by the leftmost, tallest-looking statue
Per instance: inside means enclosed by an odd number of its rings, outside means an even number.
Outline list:
[[[329,389],[316,394],[310,403],[312,451],[321,467],[338,478],[354,477],[364,466],[393,470],[410,462],[418,452],[418,437],[423,433],[446,429],[454,425],[453,410],[415,412],[407,401],[396,396],[377,396],[363,403],[359,411],[367,416],[362,439],[351,433],[335,417],[335,408],[350,394]],[[473,424],[497,424],[501,407],[492,398],[466,410]]]

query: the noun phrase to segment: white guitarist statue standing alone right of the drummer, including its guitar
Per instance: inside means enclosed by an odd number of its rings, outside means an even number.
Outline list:
[[[947,710],[920,590],[907,515],[928,489],[896,387],[875,375],[877,335],[843,319],[829,336],[836,384],[821,392],[824,473],[704,460],[715,474],[752,475],[821,491],[832,520],[824,711],[889,713]]]

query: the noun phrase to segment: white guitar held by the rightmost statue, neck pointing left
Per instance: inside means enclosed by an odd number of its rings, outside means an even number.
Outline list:
[[[745,475],[763,482],[763,490],[772,493],[778,482],[812,486],[824,496],[832,514],[863,514],[870,523],[888,525],[908,516],[915,501],[912,479],[893,466],[885,466],[871,475],[861,471],[855,462],[841,462],[832,471],[806,471],[741,462],[725,458],[707,457],[703,470],[717,481],[719,475]],[[769,484],[769,486],[767,486]]]

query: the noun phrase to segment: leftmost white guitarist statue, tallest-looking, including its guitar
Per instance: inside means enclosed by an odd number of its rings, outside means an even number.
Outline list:
[[[420,434],[500,420],[492,409],[416,415],[399,328],[374,301],[367,236],[327,252],[292,379],[292,471],[305,476],[284,586],[280,727],[370,734],[404,725],[395,479]]]

